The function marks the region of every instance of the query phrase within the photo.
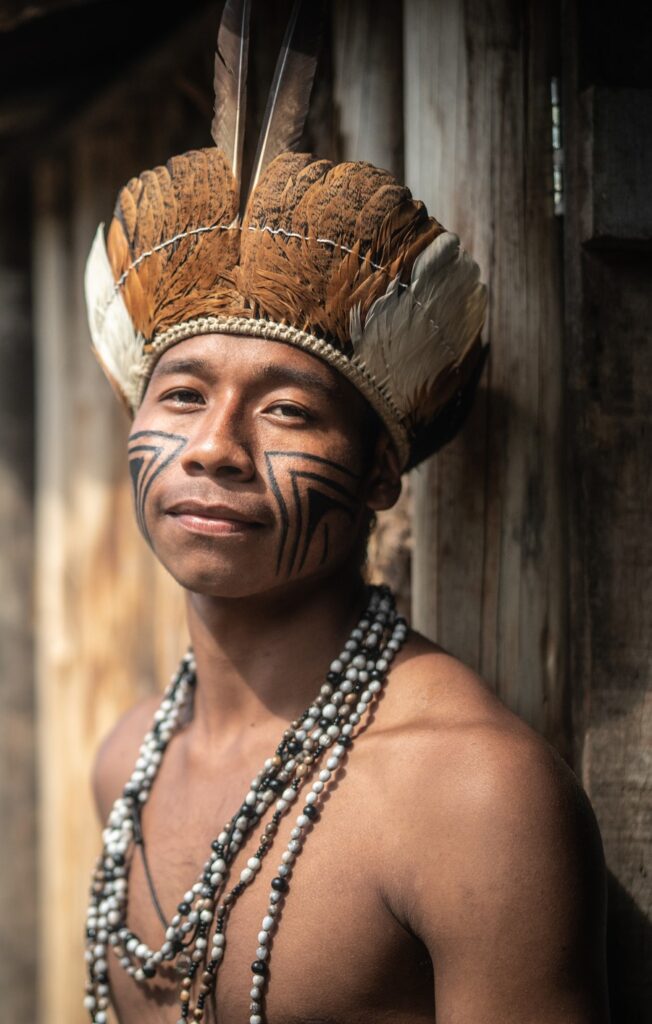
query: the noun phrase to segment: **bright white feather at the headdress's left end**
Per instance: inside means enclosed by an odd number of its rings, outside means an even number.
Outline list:
[[[93,348],[113,386],[134,410],[140,394],[138,367],[143,337],[134,328],[108,262],[104,225],[99,225],[84,273],[86,310]]]

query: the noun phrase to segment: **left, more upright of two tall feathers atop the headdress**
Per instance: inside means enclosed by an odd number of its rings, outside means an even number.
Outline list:
[[[251,0],[227,0],[217,34],[211,135],[228,160],[240,190],[247,112]]]

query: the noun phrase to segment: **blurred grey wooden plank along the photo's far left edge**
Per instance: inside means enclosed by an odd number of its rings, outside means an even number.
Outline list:
[[[34,394],[30,194],[0,168],[0,1017],[36,1015]]]

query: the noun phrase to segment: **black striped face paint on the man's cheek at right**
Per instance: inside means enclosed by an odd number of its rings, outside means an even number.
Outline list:
[[[308,549],[323,517],[334,509],[354,518],[358,504],[354,484],[360,479],[346,466],[306,452],[265,452],[271,488],[280,512],[276,574],[290,575],[305,564]],[[289,483],[289,486],[288,486]],[[285,486],[282,485],[285,484]],[[292,493],[295,526],[284,490]],[[321,531],[322,565],[329,555],[329,524]]]

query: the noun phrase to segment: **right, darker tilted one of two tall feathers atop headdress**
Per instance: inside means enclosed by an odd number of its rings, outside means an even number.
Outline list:
[[[308,103],[328,0],[295,0],[276,61],[254,159],[249,194],[279,153],[296,148]]]

